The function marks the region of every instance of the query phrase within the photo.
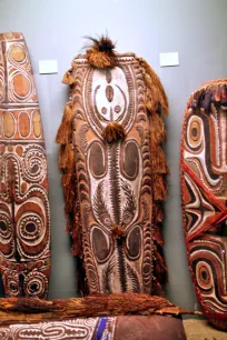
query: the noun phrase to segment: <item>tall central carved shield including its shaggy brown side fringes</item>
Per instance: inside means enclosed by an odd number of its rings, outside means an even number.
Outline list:
[[[155,144],[161,149],[165,128],[159,100],[148,112],[142,62],[134,54],[116,56],[115,67],[100,69],[79,56],[65,77],[71,83],[71,101],[57,137],[59,164],[72,250],[85,262],[90,293],[160,293],[166,278],[159,223],[167,166],[164,152],[161,160],[151,152]],[[161,87],[157,76],[156,81]],[[158,161],[162,172],[155,167]],[[69,207],[72,191],[77,201]]]

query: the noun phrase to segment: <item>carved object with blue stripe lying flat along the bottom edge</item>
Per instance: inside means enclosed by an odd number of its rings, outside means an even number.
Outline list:
[[[127,336],[126,336],[127,334]],[[182,321],[160,316],[122,316],[0,327],[1,340],[185,340]],[[126,338],[127,337],[127,338]]]

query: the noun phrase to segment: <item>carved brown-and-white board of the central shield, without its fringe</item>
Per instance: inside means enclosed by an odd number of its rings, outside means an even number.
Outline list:
[[[85,59],[73,64],[73,143],[89,290],[149,293],[152,198],[140,66],[127,56],[112,70],[96,70]],[[124,126],[124,141],[103,140],[110,121]],[[117,228],[124,236],[114,236]]]

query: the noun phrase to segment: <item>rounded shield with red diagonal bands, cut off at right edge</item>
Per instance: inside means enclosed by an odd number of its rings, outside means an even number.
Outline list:
[[[188,101],[181,138],[186,247],[198,301],[227,330],[227,80],[210,81]]]

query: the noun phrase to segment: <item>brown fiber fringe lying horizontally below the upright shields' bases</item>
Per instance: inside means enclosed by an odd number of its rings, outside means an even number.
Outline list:
[[[199,313],[176,307],[161,297],[119,293],[96,294],[69,300],[45,301],[32,298],[0,299],[0,322],[32,323],[48,320],[100,316],[151,316]]]

